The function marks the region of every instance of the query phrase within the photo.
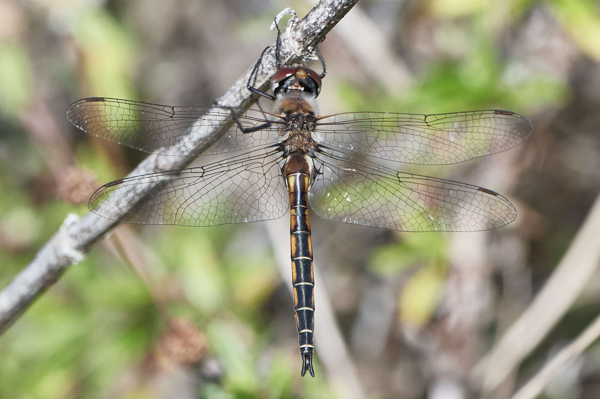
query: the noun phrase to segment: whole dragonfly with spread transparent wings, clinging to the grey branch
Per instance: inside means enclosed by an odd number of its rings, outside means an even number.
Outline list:
[[[103,97],[71,104],[67,119],[104,140],[159,155],[238,152],[202,167],[161,171],[107,183],[89,208],[107,219],[156,225],[213,226],[277,219],[290,211],[290,249],[301,376],[314,377],[314,276],[308,207],[335,222],[397,231],[482,231],[517,217],[497,192],[404,173],[378,159],[447,165],[511,149],[533,132],[520,114],[502,110],[445,114],[350,112],[320,116],[322,72],[301,64],[277,71],[272,111],[173,107]],[[209,132],[225,129],[217,138]],[[184,138],[185,137],[185,138]],[[210,143],[211,145],[203,145]],[[200,145],[199,145],[200,144]]]

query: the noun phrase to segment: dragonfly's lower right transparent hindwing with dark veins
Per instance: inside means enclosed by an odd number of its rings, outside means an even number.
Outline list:
[[[316,154],[320,174],[308,202],[323,219],[399,231],[479,231],[517,217],[491,190],[351,158],[322,147]]]

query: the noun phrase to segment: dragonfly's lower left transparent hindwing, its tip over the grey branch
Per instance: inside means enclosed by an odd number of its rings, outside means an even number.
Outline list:
[[[89,208],[120,222],[212,226],[277,219],[289,207],[281,152],[261,149],[205,167],[116,180]]]

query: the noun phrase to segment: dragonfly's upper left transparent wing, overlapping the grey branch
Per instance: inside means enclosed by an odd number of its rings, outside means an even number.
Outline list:
[[[244,133],[244,129],[262,129]],[[247,108],[171,107],[115,98],[85,98],[69,105],[67,119],[104,140],[160,155],[201,155],[272,144],[283,129],[269,113]],[[215,132],[218,128],[225,130]]]

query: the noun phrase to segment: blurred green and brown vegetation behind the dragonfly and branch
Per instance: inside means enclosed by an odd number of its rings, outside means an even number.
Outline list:
[[[145,156],[78,131],[67,105],[210,105],[274,41],[279,11],[313,5],[0,0],[0,287],[68,213],[88,211],[97,186]],[[496,108],[535,126],[518,149],[409,168],[505,194],[519,212],[505,228],[401,234],[311,215],[317,284],[368,397],[467,397],[473,365],[544,284],[600,191],[600,5],[357,7],[362,19],[343,20],[321,46],[323,114]],[[372,37],[367,52],[356,46]],[[290,279],[274,254],[264,223],[119,226],[0,337],[0,398],[344,397],[319,359],[327,326],[316,325],[317,376],[299,377]],[[594,277],[508,392],[589,323],[598,294]],[[558,380],[544,397],[600,397],[600,347]]]

